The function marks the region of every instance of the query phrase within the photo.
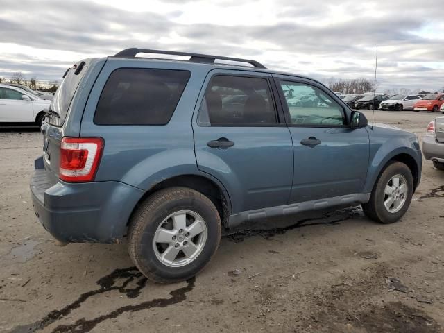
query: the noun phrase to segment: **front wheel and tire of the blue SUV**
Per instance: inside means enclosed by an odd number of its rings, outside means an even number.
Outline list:
[[[379,223],[398,221],[409,209],[413,196],[413,176],[402,162],[392,162],[380,173],[368,203],[366,216]]]

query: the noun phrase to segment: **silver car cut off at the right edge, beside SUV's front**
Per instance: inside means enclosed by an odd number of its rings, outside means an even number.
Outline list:
[[[422,138],[422,153],[436,169],[444,170],[444,117],[430,121]]]

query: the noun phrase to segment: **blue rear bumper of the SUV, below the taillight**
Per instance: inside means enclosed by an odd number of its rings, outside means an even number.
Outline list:
[[[59,180],[51,184],[45,169],[35,169],[31,177],[34,212],[40,223],[54,238],[68,243],[119,242],[143,194],[122,182]]]

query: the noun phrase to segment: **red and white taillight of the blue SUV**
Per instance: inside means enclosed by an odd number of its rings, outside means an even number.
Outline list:
[[[65,182],[91,182],[103,151],[101,137],[63,137],[59,177]]]

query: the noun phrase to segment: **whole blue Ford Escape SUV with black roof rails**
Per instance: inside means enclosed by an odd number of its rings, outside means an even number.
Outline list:
[[[304,96],[317,103],[289,103]],[[44,228],[65,243],[127,237],[156,282],[196,275],[244,221],[359,203],[398,221],[420,182],[416,135],[368,126],[325,85],[254,60],[83,60],[42,133],[31,193]]]

